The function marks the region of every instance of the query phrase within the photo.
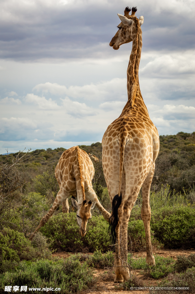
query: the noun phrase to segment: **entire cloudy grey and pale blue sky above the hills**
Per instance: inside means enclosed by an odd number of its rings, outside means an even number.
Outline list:
[[[139,81],[160,135],[195,131],[194,0],[1,0],[0,154],[101,141],[127,101],[132,43],[117,13],[144,16]]]

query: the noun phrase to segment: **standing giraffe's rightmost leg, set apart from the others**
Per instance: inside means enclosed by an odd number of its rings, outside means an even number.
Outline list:
[[[150,209],[150,186],[152,183],[152,178],[154,174],[155,163],[152,164],[147,178],[145,179],[142,185],[142,208],[141,216],[145,228],[145,239],[146,239],[146,263],[155,265],[155,258],[152,253],[152,243],[150,236],[150,218],[151,218],[151,209]]]

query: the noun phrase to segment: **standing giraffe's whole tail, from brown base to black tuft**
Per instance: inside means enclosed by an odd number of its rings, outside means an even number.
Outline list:
[[[112,242],[113,244],[116,243],[116,226],[118,225],[118,208],[121,205],[122,201],[122,193],[121,193],[121,183],[122,183],[122,176],[123,176],[123,163],[124,163],[124,153],[125,153],[125,145],[128,138],[128,133],[126,128],[122,128],[119,136],[118,136],[118,143],[119,143],[119,187],[118,187],[118,194],[116,194],[112,200],[112,213],[109,219],[109,228],[108,230],[111,232]]]

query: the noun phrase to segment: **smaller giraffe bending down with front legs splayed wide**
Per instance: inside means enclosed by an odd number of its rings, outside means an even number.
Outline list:
[[[84,150],[76,146],[64,151],[55,168],[55,177],[60,186],[60,191],[57,193],[52,208],[43,216],[29,240],[33,239],[35,233],[45,225],[60,204],[62,204],[62,212],[68,213],[69,196],[73,196],[71,198],[72,205],[77,208],[77,223],[82,236],[86,234],[87,221],[91,218],[91,209],[95,205],[104,218],[109,221],[110,213],[101,205],[93,190],[91,181],[94,177],[94,166]],[[75,196],[77,196],[78,202],[74,199]]]

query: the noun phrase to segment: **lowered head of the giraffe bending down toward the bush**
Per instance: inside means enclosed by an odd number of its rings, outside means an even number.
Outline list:
[[[91,200],[86,204],[86,200],[84,200],[81,204],[79,204],[75,199],[71,198],[72,205],[77,208],[77,223],[80,227],[79,233],[84,237],[86,234],[87,221],[91,218],[91,209],[94,208],[97,201],[93,203]]]

